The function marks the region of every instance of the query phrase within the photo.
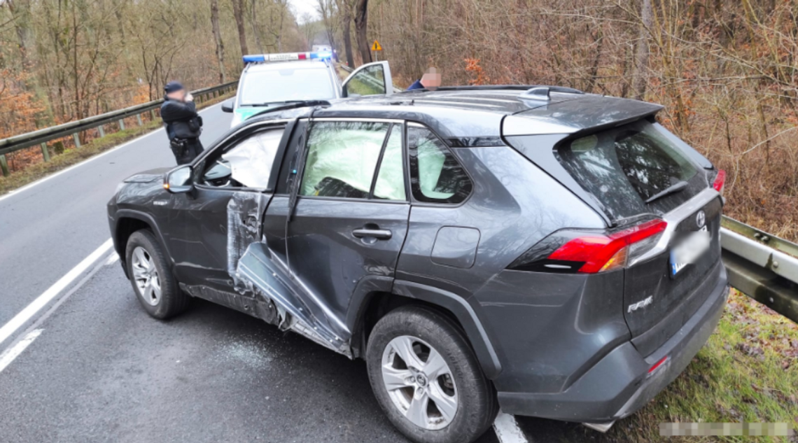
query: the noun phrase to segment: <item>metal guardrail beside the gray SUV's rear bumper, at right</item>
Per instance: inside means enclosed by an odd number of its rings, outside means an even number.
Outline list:
[[[798,322],[798,244],[724,216],[721,245],[732,287]]]

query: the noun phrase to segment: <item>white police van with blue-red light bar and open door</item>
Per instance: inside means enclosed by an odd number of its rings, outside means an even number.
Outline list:
[[[231,128],[286,103],[394,92],[387,61],[362,65],[340,81],[332,57],[332,52],[245,55],[238,94],[222,105],[233,113]]]

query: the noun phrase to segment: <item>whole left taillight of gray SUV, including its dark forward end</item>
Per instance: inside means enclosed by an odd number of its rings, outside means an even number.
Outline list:
[[[510,269],[582,274],[622,269],[654,247],[667,226],[664,220],[650,220],[608,233],[557,231],[519,257]]]

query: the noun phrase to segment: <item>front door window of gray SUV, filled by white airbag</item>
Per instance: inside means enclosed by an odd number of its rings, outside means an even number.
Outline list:
[[[282,128],[267,129],[247,136],[221,156],[208,157],[202,183],[219,188],[268,188],[282,133]]]

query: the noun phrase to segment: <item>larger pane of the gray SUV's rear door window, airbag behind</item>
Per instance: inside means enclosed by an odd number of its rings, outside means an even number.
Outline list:
[[[367,199],[388,123],[322,121],[310,129],[300,196]]]

